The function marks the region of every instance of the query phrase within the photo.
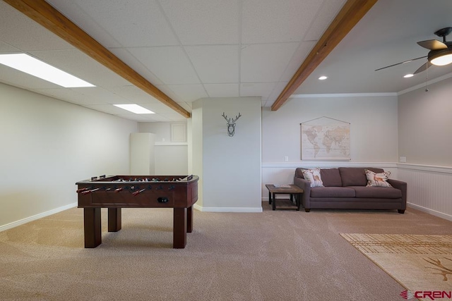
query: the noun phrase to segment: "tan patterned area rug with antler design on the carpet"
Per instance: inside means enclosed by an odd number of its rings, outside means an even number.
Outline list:
[[[452,290],[452,235],[340,235],[411,292]]]

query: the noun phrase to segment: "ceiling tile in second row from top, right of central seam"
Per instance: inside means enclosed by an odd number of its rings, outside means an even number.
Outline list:
[[[242,82],[276,82],[283,75],[299,43],[242,46]]]

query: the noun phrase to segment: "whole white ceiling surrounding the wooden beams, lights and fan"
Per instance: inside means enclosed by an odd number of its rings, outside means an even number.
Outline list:
[[[271,106],[345,0],[48,0],[186,111],[203,97],[261,97]],[[397,93],[444,78],[413,78],[416,44],[452,26],[450,0],[379,0],[295,94]],[[0,82],[133,121],[185,121],[131,82],[0,1],[0,53],[25,52],[93,83],[62,88],[0,65]],[[452,37],[451,37],[452,38]],[[328,79],[319,81],[320,75]],[[290,100],[295,101],[295,100]],[[155,114],[126,113],[136,103]]]

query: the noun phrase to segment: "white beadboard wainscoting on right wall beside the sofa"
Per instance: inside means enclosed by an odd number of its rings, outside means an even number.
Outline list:
[[[398,178],[408,183],[408,205],[452,221],[452,168],[398,164]]]

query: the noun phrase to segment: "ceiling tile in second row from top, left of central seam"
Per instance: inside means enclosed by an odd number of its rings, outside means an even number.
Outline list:
[[[239,81],[239,45],[184,48],[202,82],[211,84]]]

